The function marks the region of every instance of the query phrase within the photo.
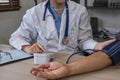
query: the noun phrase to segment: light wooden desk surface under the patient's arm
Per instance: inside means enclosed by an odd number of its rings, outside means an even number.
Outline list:
[[[67,54],[55,54],[55,61],[65,63],[68,56]],[[81,58],[83,56],[75,55],[71,58],[71,62]],[[29,70],[36,66],[33,64],[33,59],[0,66],[0,80],[37,80],[36,77],[29,73]],[[120,65],[118,64],[117,66],[111,66],[100,71],[75,75],[60,80],[120,80],[119,76]]]

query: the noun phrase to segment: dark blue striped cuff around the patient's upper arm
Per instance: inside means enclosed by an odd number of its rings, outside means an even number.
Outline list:
[[[102,49],[112,60],[112,64],[116,65],[120,62],[120,40],[116,40]]]

